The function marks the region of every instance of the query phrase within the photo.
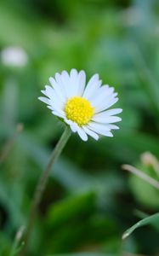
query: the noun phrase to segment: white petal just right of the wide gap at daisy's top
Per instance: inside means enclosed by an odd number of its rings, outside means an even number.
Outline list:
[[[94,91],[99,89],[100,84],[101,81],[99,80],[99,75],[94,74],[94,76],[88,81],[88,85],[84,90],[83,97],[86,99],[90,98],[94,94]]]

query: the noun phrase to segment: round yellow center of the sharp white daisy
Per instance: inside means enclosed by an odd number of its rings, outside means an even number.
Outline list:
[[[66,118],[78,125],[86,125],[94,115],[94,108],[88,100],[74,96],[65,104]]]

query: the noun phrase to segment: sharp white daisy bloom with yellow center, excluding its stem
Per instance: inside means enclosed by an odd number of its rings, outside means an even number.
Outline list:
[[[95,140],[99,135],[113,137],[111,130],[119,129],[113,124],[121,121],[116,114],[122,108],[109,109],[118,101],[117,93],[107,84],[101,86],[98,74],[94,74],[87,86],[85,72],[77,73],[76,69],[71,69],[70,74],[56,73],[55,79],[51,77],[49,82],[52,86],[46,85],[42,90],[47,97],[39,100],[70,125],[71,131],[77,132],[83,141],[88,140],[88,135]]]

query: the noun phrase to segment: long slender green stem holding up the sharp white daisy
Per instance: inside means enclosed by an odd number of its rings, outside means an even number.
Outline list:
[[[50,156],[50,159],[48,161],[48,166],[46,166],[46,169],[44,170],[42,176],[39,179],[39,182],[37,183],[37,188],[35,190],[35,194],[33,196],[33,200],[31,203],[31,212],[30,212],[30,216],[28,219],[28,224],[26,226],[26,236],[24,239],[25,246],[23,247],[23,251],[22,251],[22,253],[20,253],[20,256],[26,255],[26,248],[28,245],[29,238],[31,236],[31,231],[32,231],[33,224],[34,224],[34,221],[36,218],[36,214],[37,214],[37,207],[39,206],[39,203],[42,199],[43,191],[48,182],[49,173],[52,169],[52,166],[54,165],[55,160],[57,160],[58,157],[60,156],[62,149],[65,147],[65,144],[67,143],[70,136],[71,136],[71,130],[69,127],[66,127],[64,133],[60,137],[59,142],[55,146],[54,151],[52,152],[52,154]]]

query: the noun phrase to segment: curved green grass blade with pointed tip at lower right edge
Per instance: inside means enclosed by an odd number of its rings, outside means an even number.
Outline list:
[[[130,236],[134,230],[145,226],[146,224],[159,224],[159,212],[156,214],[151,215],[150,217],[144,218],[142,220],[140,220],[139,222],[137,222],[136,224],[134,224],[130,229],[126,230],[123,235],[122,235],[122,239],[127,238],[128,236]]]

